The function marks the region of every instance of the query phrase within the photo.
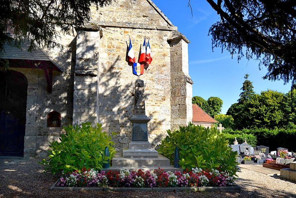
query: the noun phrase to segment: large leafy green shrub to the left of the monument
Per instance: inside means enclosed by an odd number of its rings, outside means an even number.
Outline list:
[[[61,135],[60,142],[50,143],[49,159],[40,162],[45,165],[45,170],[51,170],[53,174],[75,170],[80,172],[83,167],[100,170],[103,163],[107,163],[116,153],[111,137],[102,132],[101,124],[92,127],[87,122],[64,129],[66,134]],[[109,147],[110,157],[104,157],[106,146]]]

